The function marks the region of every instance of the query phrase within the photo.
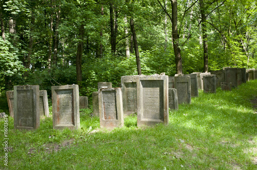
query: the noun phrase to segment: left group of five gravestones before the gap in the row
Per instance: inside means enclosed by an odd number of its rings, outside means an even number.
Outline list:
[[[78,85],[52,87],[54,129],[79,127],[77,108],[88,108],[88,98],[79,96],[78,91]],[[7,91],[6,95],[15,129],[36,129],[40,125],[40,117],[49,117],[47,92],[39,90],[39,86],[14,86],[14,90]]]

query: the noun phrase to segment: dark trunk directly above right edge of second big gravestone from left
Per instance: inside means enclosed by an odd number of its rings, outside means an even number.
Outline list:
[[[81,85],[82,81],[82,53],[83,53],[83,39],[84,39],[84,25],[80,26],[79,29],[79,43],[78,43],[78,51],[76,56],[76,72],[77,72],[77,84]]]

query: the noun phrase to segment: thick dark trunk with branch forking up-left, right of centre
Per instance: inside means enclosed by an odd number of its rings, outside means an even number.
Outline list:
[[[182,74],[182,58],[179,48],[179,35],[177,28],[177,0],[171,0],[172,5],[172,39],[173,49],[175,54],[176,72]]]

